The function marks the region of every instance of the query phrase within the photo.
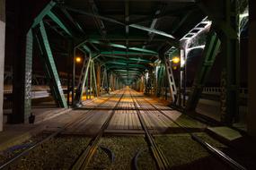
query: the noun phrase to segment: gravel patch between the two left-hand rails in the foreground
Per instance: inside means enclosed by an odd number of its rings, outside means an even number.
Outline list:
[[[58,136],[33,149],[9,169],[69,169],[90,140],[81,136]]]

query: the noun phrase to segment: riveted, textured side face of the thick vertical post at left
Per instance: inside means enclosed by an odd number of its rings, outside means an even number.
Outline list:
[[[33,34],[29,30],[26,36],[25,86],[24,86],[24,123],[29,123],[31,115],[31,80],[32,80]]]

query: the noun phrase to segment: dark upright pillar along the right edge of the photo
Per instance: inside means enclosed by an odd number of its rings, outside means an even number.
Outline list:
[[[256,138],[256,1],[249,1],[248,133]]]

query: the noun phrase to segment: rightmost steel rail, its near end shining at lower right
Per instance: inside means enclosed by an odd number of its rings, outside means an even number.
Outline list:
[[[205,140],[202,140],[199,138],[198,135],[193,134],[192,132],[189,132],[187,130],[187,128],[182,124],[182,123],[177,123],[175,120],[173,120],[170,116],[166,115],[160,108],[154,106],[152,103],[150,103],[148,100],[146,100],[145,98],[143,98],[150,106],[153,106],[155,108],[155,110],[157,110],[158,112],[160,112],[162,115],[164,115],[167,119],[169,119],[170,121],[172,121],[172,123],[175,123],[176,125],[178,125],[179,127],[181,127],[181,129],[183,129],[185,132],[189,133],[191,138],[193,140],[196,140],[199,142],[200,145],[202,145],[202,147],[204,147],[205,149],[207,149],[207,151],[213,155],[215,155],[216,157],[220,158],[222,161],[224,161],[227,165],[231,166],[232,168],[236,169],[236,170],[246,170],[246,168],[242,165],[240,165],[238,162],[236,162],[233,158],[227,156],[224,152],[222,152],[219,149],[216,149],[214,146],[210,145],[209,143],[207,143]]]

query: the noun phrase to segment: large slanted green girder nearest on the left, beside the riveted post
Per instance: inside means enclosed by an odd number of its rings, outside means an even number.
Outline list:
[[[64,96],[61,83],[57,74],[57,68],[53,59],[51,49],[49,47],[49,40],[47,32],[45,30],[44,24],[40,22],[40,31],[37,33],[38,43],[41,50],[41,55],[46,67],[47,76],[49,78],[50,88],[52,90],[53,96],[56,100],[56,103],[59,106],[67,107],[66,98]]]

